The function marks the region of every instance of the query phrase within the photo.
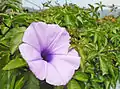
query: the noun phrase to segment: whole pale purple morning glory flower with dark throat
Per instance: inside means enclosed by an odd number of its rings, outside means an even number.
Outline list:
[[[69,42],[64,28],[33,22],[25,31],[19,50],[38,79],[65,85],[80,65],[80,57],[75,49],[69,49]]]

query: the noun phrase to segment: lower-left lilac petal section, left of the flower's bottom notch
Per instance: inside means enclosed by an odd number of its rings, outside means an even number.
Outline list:
[[[35,76],[44,80],[47,74],[47,62],[44,60],[36,60],[28,62],[30,70],[35,74]]]

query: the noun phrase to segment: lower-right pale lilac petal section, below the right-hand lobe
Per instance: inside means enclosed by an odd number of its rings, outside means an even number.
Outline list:
[[[58,57],[53,58],[53,60],[50,63],[56,68],[56,70],[62,77],[62,84],[66,85],[75,72],[74,66],[64,60],[60,60]]]

